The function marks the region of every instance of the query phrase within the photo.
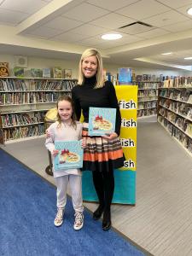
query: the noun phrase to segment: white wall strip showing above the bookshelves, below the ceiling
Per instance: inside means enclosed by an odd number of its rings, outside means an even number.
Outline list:
[[[38,57],[28,57],[28,67],[25,68],[25,76],[30,77],[30,69],[31,68],[44,68],[44,67],[62,67],[62,69],[72,69],[73,70],[73,79],[78,78],[78,68],[79,61],[67,61],[60,59],[47,59],[47,58],[38,58]],[[13,75],[13,68],[15,67],[15,56],[14,55],[0,55],[0,62],[9,62],[9,70],[10,76]],[[112,73],[117,74],[119,70],[119,65],[110,65],[108,63],[104,63],[104,68]],[[154,74],[156,76],[163,75],[173,75],[173,76],[192,76],[192,72],[185,70],[160,70],[160,69],[151,69],[147,67],[133,67],[133,71],[136,74]]]

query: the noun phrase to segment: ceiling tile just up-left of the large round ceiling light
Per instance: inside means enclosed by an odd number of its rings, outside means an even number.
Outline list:
[[[74,32],[77,34],[87,35],[87,36],[95,36],[98,34],[102,34],[107,32],[108,30],[99,26],[93,26],[90,24],[84,24],[83,26],[79,26],[70,30],[70,32]]]

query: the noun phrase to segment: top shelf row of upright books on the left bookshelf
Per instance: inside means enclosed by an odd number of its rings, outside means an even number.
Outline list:
[[[0,79],[0,91],[26,91],[26,90],[72,90],[77,84],[76,80],[51,81],[30,80],[26,86],[24,79]]]

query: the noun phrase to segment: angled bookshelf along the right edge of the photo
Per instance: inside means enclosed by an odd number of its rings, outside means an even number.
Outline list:
[[[158,121],[192,156],[191,84],[166,82],[159,88]]]

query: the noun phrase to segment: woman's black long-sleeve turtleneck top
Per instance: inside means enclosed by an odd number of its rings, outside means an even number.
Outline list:
[[[114,86],[106,81],[102,88],[94,89],[96,76],[84,79],[84,84],[77,85],[72,90],[72,99],[77,119],[80,119],[81,109],[83,110],[84,122],[89,122],[89,108],[116,108],[115,132],[119,135],[121,116]]]

